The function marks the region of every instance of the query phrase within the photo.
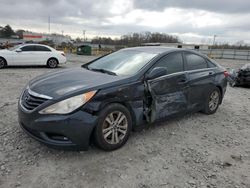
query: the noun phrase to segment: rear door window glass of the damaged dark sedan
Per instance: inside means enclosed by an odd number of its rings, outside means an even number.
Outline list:
[[[206,60],[198,55],[186,53],[187,60],[187,70],[196,70],[196,69],[204,69],[207,68]]]

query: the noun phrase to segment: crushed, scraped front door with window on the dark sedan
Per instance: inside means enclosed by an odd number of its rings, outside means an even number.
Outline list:
[[[146,89],[152,98],[149,106],[151,122],[186,111],[188,100],[188,78],[182,52],[164,56],[155,67],[165,67],[167,74],[146,81]]]

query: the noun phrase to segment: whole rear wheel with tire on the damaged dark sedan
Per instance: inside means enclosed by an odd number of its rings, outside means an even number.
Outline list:
[[[203,112],[208,115],[214,114],[220,105],[220,101],[221,101],[221,92],[219,88],[216,87],[209,92],[206,98],[205,108]]]

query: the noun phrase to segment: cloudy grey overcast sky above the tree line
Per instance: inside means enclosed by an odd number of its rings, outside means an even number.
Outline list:
[[[250,43],[250,0],[0,0],[0,26],[71,35],[120,37],[163,32],[183,42]]]

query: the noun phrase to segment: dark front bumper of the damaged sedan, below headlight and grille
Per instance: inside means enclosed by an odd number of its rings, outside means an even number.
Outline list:
[[[48,146],[87,150],[97,116],[82,110],[69,115],[41,115],[26,112],[19,104],[18,120],[28,135]]]

